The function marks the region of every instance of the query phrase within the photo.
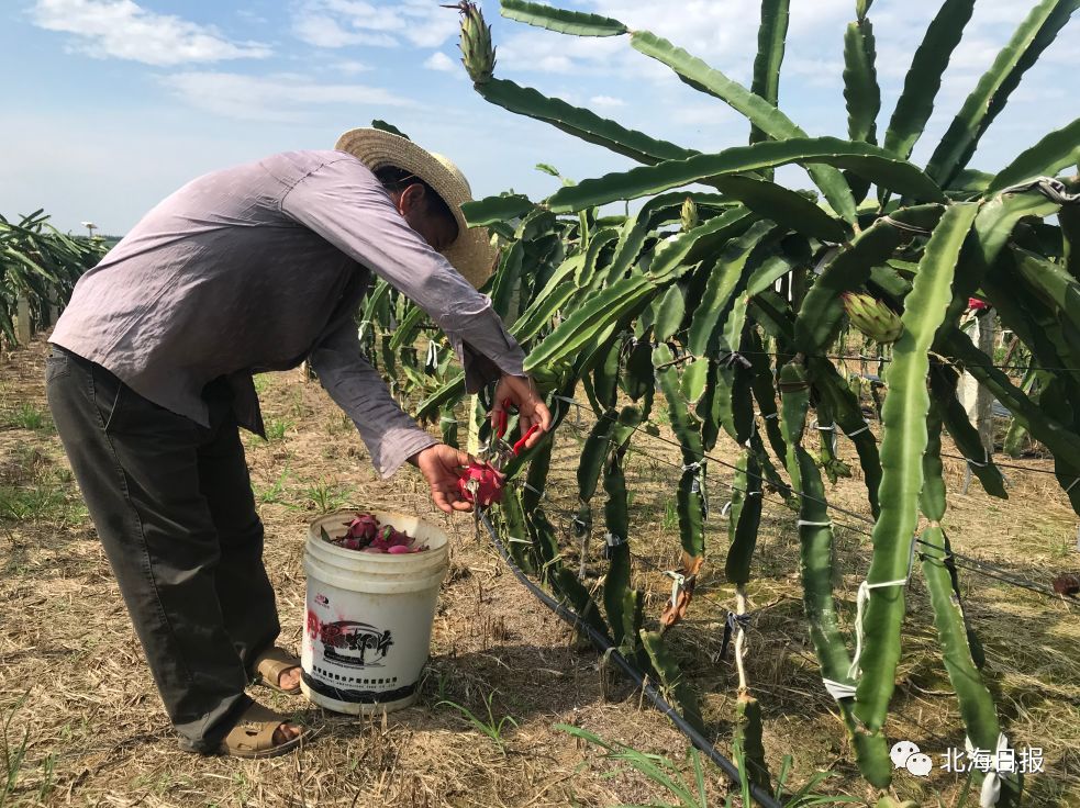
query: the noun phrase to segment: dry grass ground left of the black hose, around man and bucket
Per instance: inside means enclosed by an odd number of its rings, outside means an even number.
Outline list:
[[[423,695],[364,721],[259,688],[315,731],[310,745],[270,761],[178,751],[49,426],[44,356],[38,344],[0,362],[0,763],[14,770],[8,790],[0,768],[0,806],[602,806],[659,794],[643,777],[605,777],[611,766],[553,725],[677,758],[682,737],[636,702],[606,703],[594,654],[477,543],[471,519],[434,513],[411,469],[377,479],[355,429],[296,373],[259,380],[277,437],[246,439],[281,641],[299,646],[303,538],[320,509],[413,509],[455,537]],[[519,725],[506,726],[504,751],[437,704],[480,716],[492,694],[496,718]],[[725,788],[709,779],[714,796]]]

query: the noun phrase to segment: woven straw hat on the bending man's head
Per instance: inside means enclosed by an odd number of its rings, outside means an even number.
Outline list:
[[[497,250],[491,246],[487,227],[469,227],[461,214],[461,203],[472,200],[472,191],[457,166],[443,155],[427,152],[408,137],[374,128],[346,132],[334,147],[348,152],[377,171],[387,166],[404,169],[431,186],[454,213],[457,238],[443,255],[465,279],[479,288],[494,270]]]

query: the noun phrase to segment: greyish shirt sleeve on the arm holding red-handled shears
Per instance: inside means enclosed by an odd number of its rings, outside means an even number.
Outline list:
[[[281,201],[281,211],[423,308],[450,340],[477,392],[501,373],[524,375],[525,356],[480,294],[401,217],[359,160],[342,155],[312,171]]]

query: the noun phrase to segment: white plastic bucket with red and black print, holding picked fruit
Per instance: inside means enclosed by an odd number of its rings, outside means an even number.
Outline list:
[[[428,549],[393,556],[325,541],[321,529],[344,536],[353,510],[327,514],[309,527],[300,689],[336,712],[390,711],[416,700],[449,565],[449,540],[437,527],[408,514],[372,513]]]

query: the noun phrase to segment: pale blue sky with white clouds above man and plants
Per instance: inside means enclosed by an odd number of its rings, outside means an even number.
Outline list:
[[[444,0],[448,2],[449,0]],[[647,29],[749,82],[757,0],[559,0]],[[964,98],[1035,0],[979,0],[914,159],[924,164]],[[780,105],[811,134],[846,132],[843,32],[854,0],[792,0]],[[877,0],[883,134],[937,0]],[[381,117],[454,159],[476,195],[534,198],[558,181],[630,167],[625,158],[487,104],[458,61],[457,16],[436,0],[7,0],[0,213],[44,207],[122,234],[187,180],[298,148]],[[496,74],[703,150],[745,143],[747,124],[681,85],[623,37],[531,29],[483,9]],[[1028,71],[973,167],[1002,167],[1077,115],[1073,20]],[[795,180],[798,181],[798,180]]]

